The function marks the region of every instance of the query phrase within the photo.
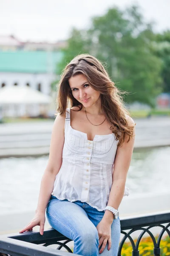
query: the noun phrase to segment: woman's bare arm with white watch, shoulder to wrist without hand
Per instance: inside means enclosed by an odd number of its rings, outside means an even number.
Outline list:
[[[130,117],[128,122],[130,125],[134,125],[134,121]],[[133,135],[135,135],[135,128],[133,129]],[[109,195],[108,206],[111,206],[115,209],[119,208],[124,195],[127,172],[129,170],[130,161],[133,154],[135,136],[130,138],[130,141],[127,143],[128,138],[129,137],[126,136],[123,145],[117,148],[114,162],[113,183]],[[103,218],[106,221],[112,223],[113,213],[109,210],[106,210]]]

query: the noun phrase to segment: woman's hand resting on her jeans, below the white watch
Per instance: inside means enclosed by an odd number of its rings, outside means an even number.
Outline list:
[[[111,223],[101,220],[96,227],[99,235],[99,247],[102,244],[102,248],[99,253],[102,253],[108,242],[108,250],[111,249]]]

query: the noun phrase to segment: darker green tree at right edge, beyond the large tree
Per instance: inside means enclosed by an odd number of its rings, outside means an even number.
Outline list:
[[[163,78],[163,90],[170,93],[170,30],[156,35],[154,53],[161,58],[163,67],[161,76]]]

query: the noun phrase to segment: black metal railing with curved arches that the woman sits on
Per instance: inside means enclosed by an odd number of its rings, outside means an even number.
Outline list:
[[[153,255],[160,256],[160,242],[164,233],[170,237],[170,212],[144,215],[142,217],[126,218],[121,221],[121,233],[124,235],[119,244],[118,256],[121,256],[122,247],[126,239],[130,240],[132,245],[132,256],[139,256],[139,243],[145,233],[151,237],[153,241]],[[164,224],[164,225],[163,225]],[[161,232],[156,241],[151,227],[161,227]],[[125,232],[127,230],[127,232]],[[142,230],[136,244],[132,238],[132,234],[136,230]],[[61,242],[65,240],[64,242]],[[44,231],[43,236],[39,232],[31,231],[23,234],[15,233],[0,236],[0,255],[5,256],[68,256],[72,253],[67,243],[71,241],[53,228]],[[48,247],[51,244],[58,244],[57,250]],[[61,251],[64,247],[68,252]],[[71,255],[75,255],[72,253]]]

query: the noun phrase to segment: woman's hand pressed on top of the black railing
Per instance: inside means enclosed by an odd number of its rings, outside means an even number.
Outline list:
[[[44,224],[45,224],[45,213],[36,213],[34,218],[26,225],[19,233],[24,231],[32,231],[33,227],[40,226],[40,235],[44,233]]]

